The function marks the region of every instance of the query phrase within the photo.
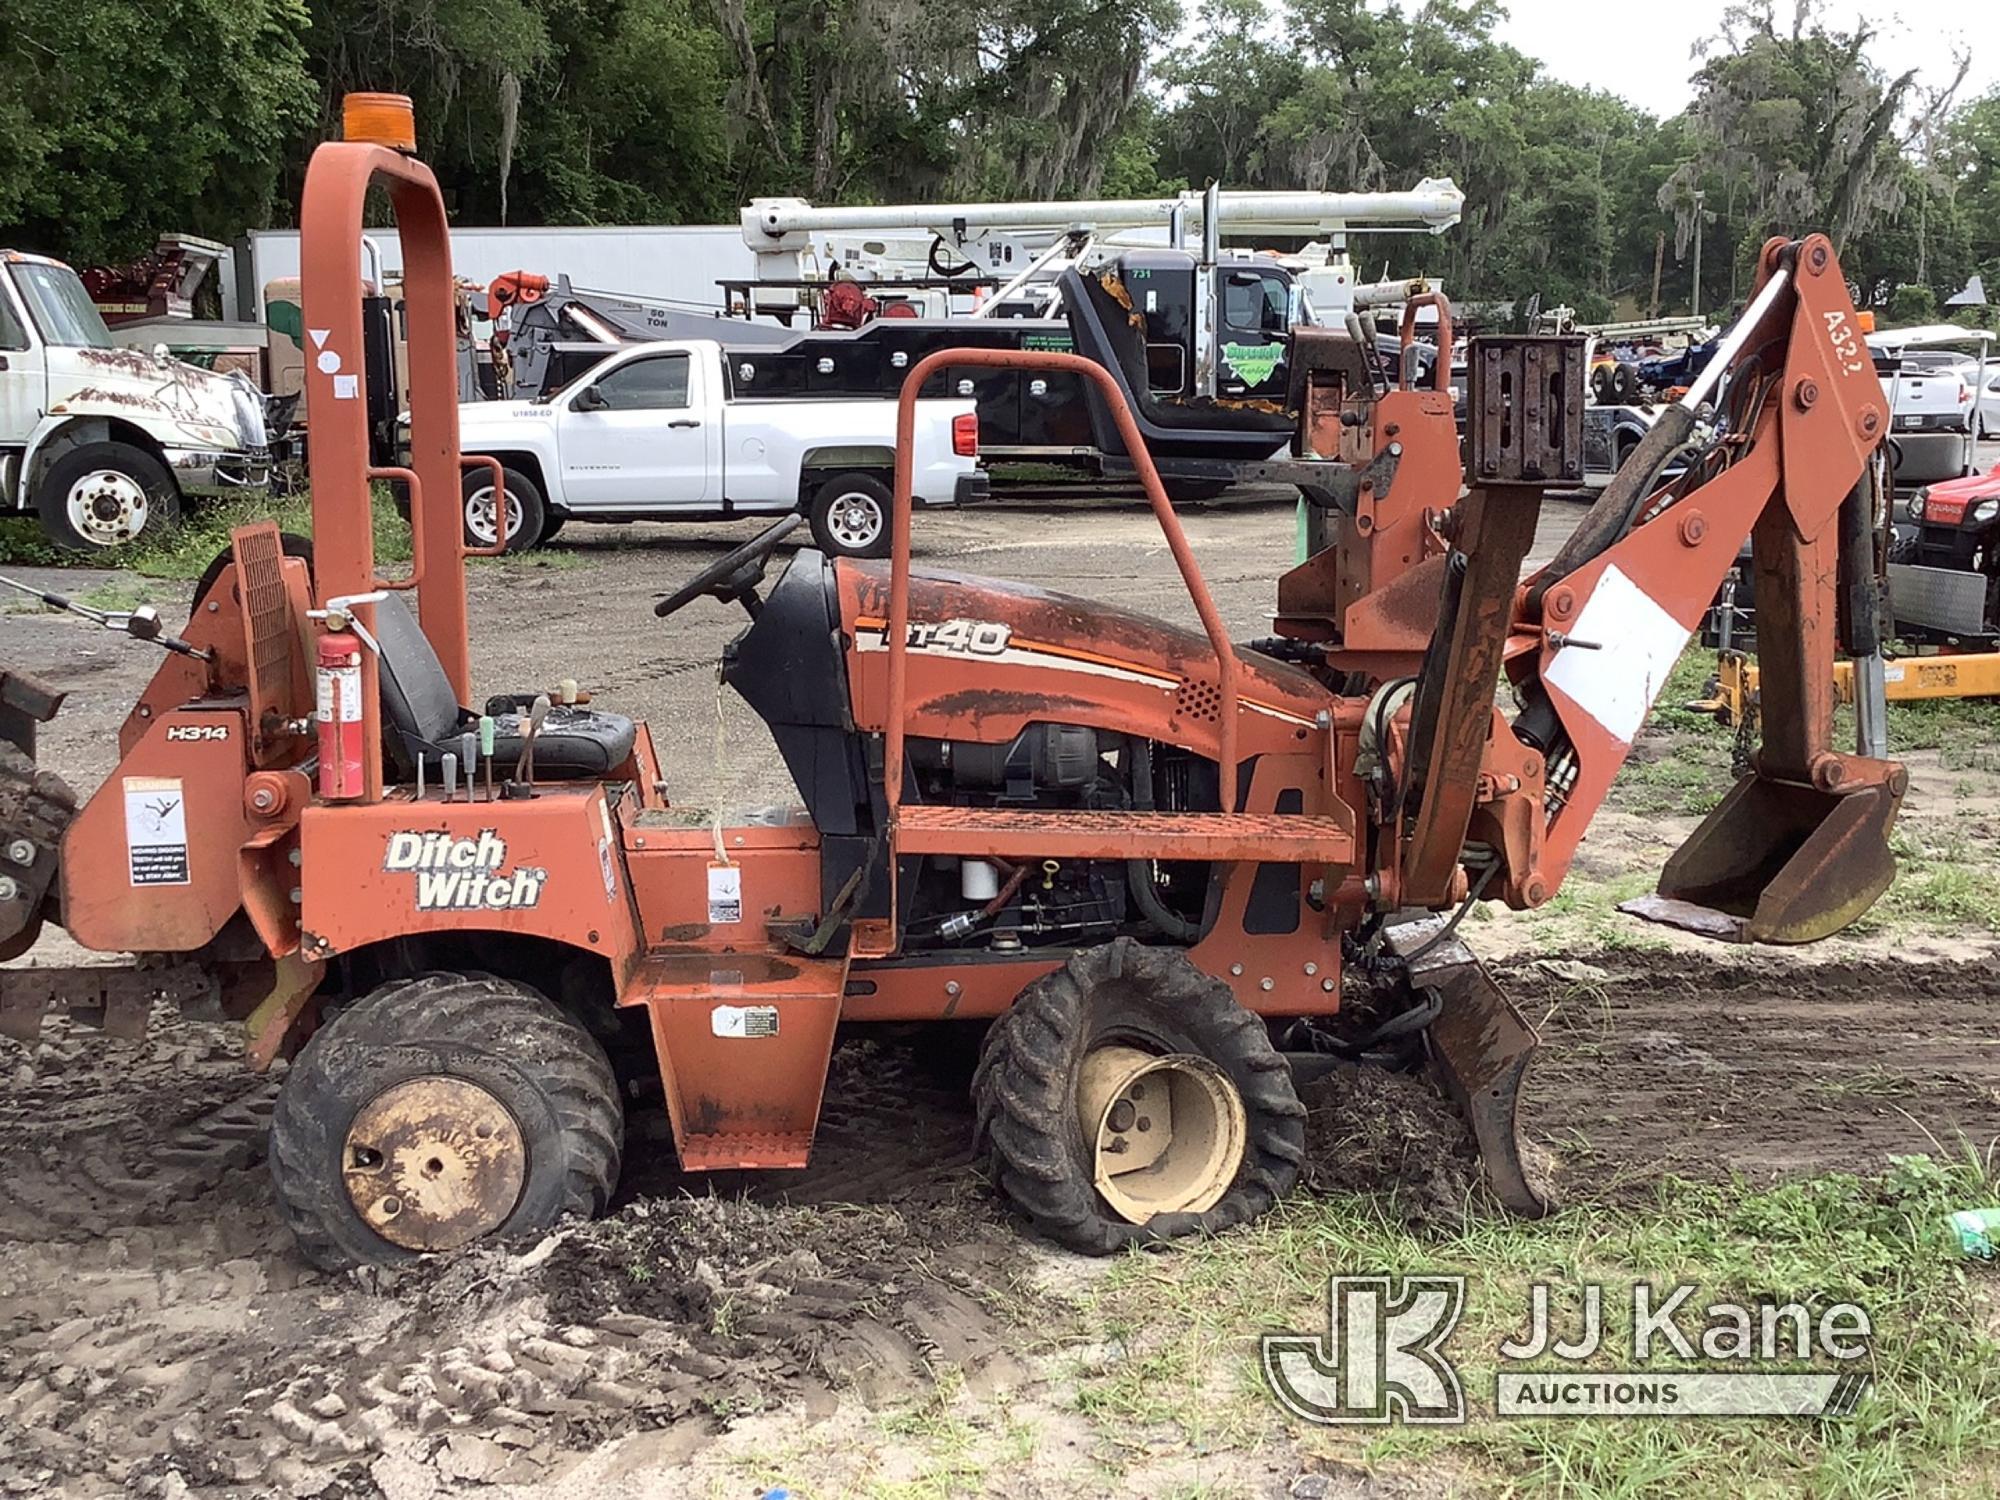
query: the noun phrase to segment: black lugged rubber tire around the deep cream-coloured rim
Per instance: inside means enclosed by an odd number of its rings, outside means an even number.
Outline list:
[[[1242,1164],[1206,1212],[1132,1224],[1098,1194],[1078,1082],[1084,1058],[1106,1044],[1206,1058],[1240,1098]],[[1306,1110],[1264,1022],[1178,948],[1130,938],[1090,948],[1020,992],[986,1038],[972,1098],[978,1150],[1000,1192],[1036,1230],[1092,1256],[1258,1218],[1298,1180],[1306,1150]]]

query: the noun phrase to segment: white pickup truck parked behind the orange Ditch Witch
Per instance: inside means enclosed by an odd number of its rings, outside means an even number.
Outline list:
[[[754,358],[732,354],[728,358]],[[712,340],[632,344],[536,402],[468,402],[458,446],[506,470],[508,546],[578,520],[718,520],[802,510],[828,554],[888,554],[896,402],[734,396]],[[922,400],[918,504],[986,498],[974,402]],[[492,546],[490,468],[464,482],[466,540]]]

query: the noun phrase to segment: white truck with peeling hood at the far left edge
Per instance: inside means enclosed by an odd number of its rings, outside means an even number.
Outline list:
[[[248,378],[120,348],[74,270],[0,250],[0,510],[38,512],[58,546],[90,552],[268,478]]]

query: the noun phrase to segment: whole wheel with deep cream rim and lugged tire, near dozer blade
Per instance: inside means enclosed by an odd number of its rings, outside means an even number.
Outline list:
[[[1106,1094],[1092,1096],[1092,1074],[1102,1074],[1106,1064],[1134,1076],[1134,1058],[1114,1054],[1152,1054],[1152,1066],[1162,1070],[1190,1060],[1180,1078],[1162,1076],[1164,1096],[1152,1096],[1168,1100],[1172,1110],[1160,1126],[1170,1136],[1168,1148],[1126,1182],[1116,1182],[1122,1168],[1108,1150],[1146,1150],[1148,1142],[1134,1134],[1124,1146],[1116,1138],[1108,1146],[1106,1132],[1144,1132],[1146,1126],[1136,1118],[1118,1126],[1116,1112],[1126,1098],[1106,1112],[1098,1108]],[[1182,1094],[1172,1092],[1176,1086]],[[1306,1150],[1306,1110],[1264,1022],[1180,950],[1142,948],[1130,938],[1090,948],[1020,992],[986,1038],[972,1098],[978,1148],[1000,1192],[1036,1230],[1094,1256],[1258,1218],[1298,1180]],[[1084,1118],[1086,1098],[1090,1120]],[[1182,1098],[1196,1126],[1188,1140],[1194,1160],[1184,1156],[1176,1166]],[[1210,1110],[1210,1102],[1220,1108]],[[1214,1174],[1222,1160],[1208,1136],[1226,1134],[1228,1116],[1242,1132],[1232,1170],[1202,1192],[1196,1178]],[[1146,1172],[1180,1182],[1146,1182]],[[1114,1184],[1122,1208],[1100,1190],[1100,1174]],[[1172,1194],[1180,1184],[1188,1188],[1182,1196],[1202,1206],[1142,1218],[1148,1202],[1172,1202],[1156,1198],[1156,1188]]]

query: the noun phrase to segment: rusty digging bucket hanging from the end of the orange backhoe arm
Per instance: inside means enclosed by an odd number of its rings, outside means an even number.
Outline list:
[[[1728,942],[1816,942],[1840,932],[1896,878],[1888,830],[1906,776],[1884,772],[1830,792],[1746,776],[1666,862],[1658,894],[1620,910]]]

